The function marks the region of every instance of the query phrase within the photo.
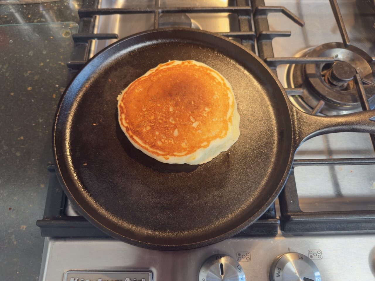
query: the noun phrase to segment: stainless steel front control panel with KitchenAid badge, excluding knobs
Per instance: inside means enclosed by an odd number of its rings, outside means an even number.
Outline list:
[[[241,257],[245,255],[239,264],[246,280],[269,281],[269,270],[277,256],[287,252],[300,253],[300,257],[311,256],[309,252],[312,251],[313,255],[317,254],[312,261],[319,269],[322,281],[371,281],[375,279],[374,237],[332,235],[288,238],[280,235],[272,238],[231,238],[208,247],[187,251],[147,250],[114,239],[46,238],[44,253],[48,254],[43,257],[42,262],[46,267],[42,268],[40,280],[63,280],[66,270],[89,270],[151,271],[154,281],[197,281],[199,268],[208,257],[225,254],[237,260],[240,253]],[[247,253],[250,260],[246,260]],[[302,267],[302,270],[306,269]],[[73,274],[72,277],[79,277],[78,281],[90,279],[87,274]],[[207,279],[209,280],[221,279]]]

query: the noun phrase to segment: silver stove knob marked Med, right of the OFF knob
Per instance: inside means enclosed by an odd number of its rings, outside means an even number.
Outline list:
[[[271,281],[321,281],[320,272],[309,257],[300,253],[278,256],[271,266]]]

